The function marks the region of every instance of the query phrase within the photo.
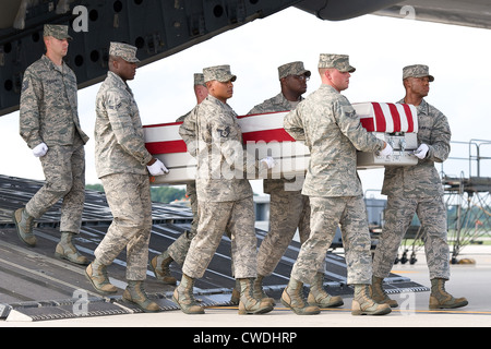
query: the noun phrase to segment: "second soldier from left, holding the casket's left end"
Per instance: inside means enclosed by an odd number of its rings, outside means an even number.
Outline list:
[[[152,230],[148,172],[159,176],[168,170],[145,148],[139,108],[127,84],[136,72],[135,53],[133,46],[110,44],[109,72],[97,94],[96,170],[113,220],[85,275],[97,291],[115,293],[107,266],[127,248],[128,287],[122,297],[145,312],[156,312],[159,306],[147,298],[142,285]]]

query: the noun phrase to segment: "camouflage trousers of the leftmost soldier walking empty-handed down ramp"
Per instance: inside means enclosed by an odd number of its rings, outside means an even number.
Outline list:
[[[80,232],[85,202],[85,151],[80,137],[74,145],[50,146],[39,158],[46,183],[29,200],[27,214],[40,218],[60,198],[60,231]]]

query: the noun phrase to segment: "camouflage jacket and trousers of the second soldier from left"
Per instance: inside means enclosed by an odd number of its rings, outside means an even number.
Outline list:
[[[111,44],[113,55],[125,55]],[[94,251],[109,265],[127,248],[127,279],[144,280],[152,231],[152,200],[142,120],[128,84],[109,71],[96,97],[96,170],[112,214],[109,229]]]

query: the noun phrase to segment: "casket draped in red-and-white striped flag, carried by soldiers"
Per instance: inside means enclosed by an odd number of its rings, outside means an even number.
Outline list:
[[[354,107],[362,127],[394,148],[393,155],[388,157],[358,152],[359,169],[417,164],[418,159],[412,155],[418,147],[418,118],[414,106],[361,103],[354,104]],[[246,173],[246,178],[304,176],[309,166],[309,149],[303,143],[296,142],[283,128],[287,113],[288,111],[282,111],[238,117],[242,130],[243,156],[249,159],[272,156],[276,161],[272,170]],[[196,159],[187,152],[187,145],[179,135],[180,125],[181,122],[172,122],[144,127],[146,148],[169,169],[167,176],[151,178],[153,184],[187,183],[196,176]]]

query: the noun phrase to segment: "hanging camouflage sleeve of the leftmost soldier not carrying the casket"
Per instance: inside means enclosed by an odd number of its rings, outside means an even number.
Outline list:
[[[20,107],[20,134],[29,148],[43,143],[39,134],[39,104],[43,98],[43,85],[31,70],[26,70],[22,82]]]

